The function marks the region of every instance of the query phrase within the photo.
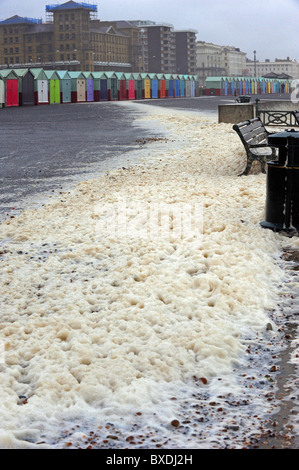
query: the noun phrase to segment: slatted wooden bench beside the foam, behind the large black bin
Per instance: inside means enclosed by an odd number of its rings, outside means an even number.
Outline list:
[[[233,129],[240,137],[247,154],[246,168],[239,176],[248,175],[255,160],[261,163],[261,170],[266,173],[266,162],[276,159],[276,149],[268,144],[268,135],[271,132],[266,130],[258,117],[234,124]]]

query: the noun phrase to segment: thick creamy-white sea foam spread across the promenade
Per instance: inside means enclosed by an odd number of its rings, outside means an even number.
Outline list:
[[[259,226],[265,175],[237,176],[243,148],[214,116],[139,109],[167,140],[0,225],[2,447],[88,430],[98,447],[242,447],[273,411],[286,274]],[[167,236],[141,230],[159,205]],[[171,209],[198,206],[200,230],[174,231]]]

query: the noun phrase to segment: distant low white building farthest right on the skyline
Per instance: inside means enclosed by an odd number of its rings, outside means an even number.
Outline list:
[[[259,60],[246,60],[246,69],[248,74],[252,77],[255,75],[257,77],[263,77],[269,73],[274,73],[276,75],[288,75],[291,78],[299,78],[299,63],[296,59],[275,59],[270,61],[270,59],[265,59],[265,61],[260,62]]]

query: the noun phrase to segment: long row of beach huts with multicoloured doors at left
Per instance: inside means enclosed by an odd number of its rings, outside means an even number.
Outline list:
[[[198,96],[198,78],[118,72],[0,70],[0,107]]]

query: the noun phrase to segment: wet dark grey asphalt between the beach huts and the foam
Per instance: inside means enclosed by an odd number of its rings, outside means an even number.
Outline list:
[[[112,102],[0,109],[0,220],[25,201],[115,168],[147,135],[133,126],[139,114]]]

